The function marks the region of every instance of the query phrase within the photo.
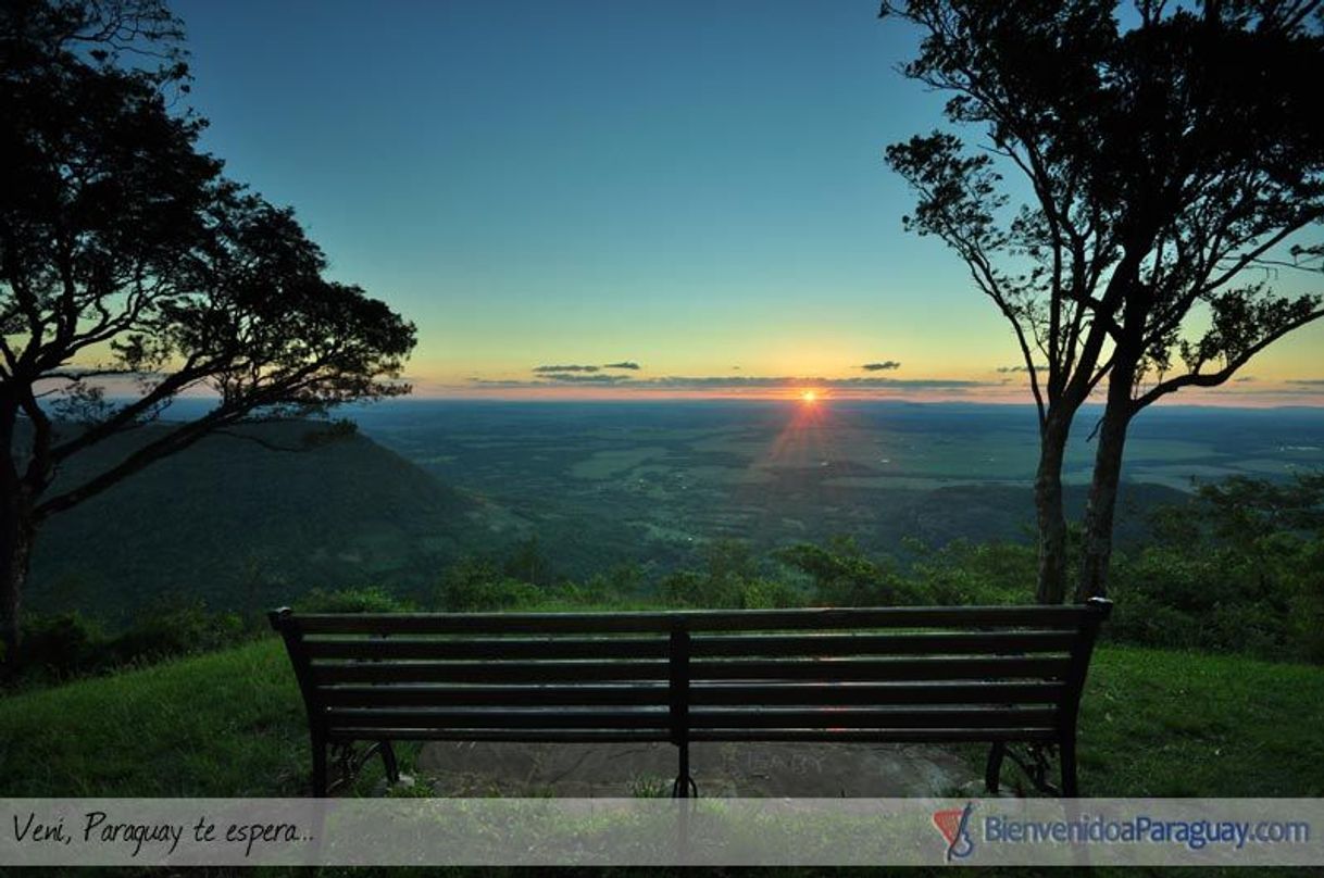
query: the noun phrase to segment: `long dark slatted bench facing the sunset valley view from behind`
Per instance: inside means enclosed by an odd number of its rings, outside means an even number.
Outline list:
[[[312,789],[393,740],[984,742],[1075,796],[1076,715],[1111,604],[645,613],[273,610],[307,707]],[[365,748],[355,747],[367,744]],[[1023,752],[1019,747],[1025,746]],[[1050,777],[1053,751],[1061,787]]]

